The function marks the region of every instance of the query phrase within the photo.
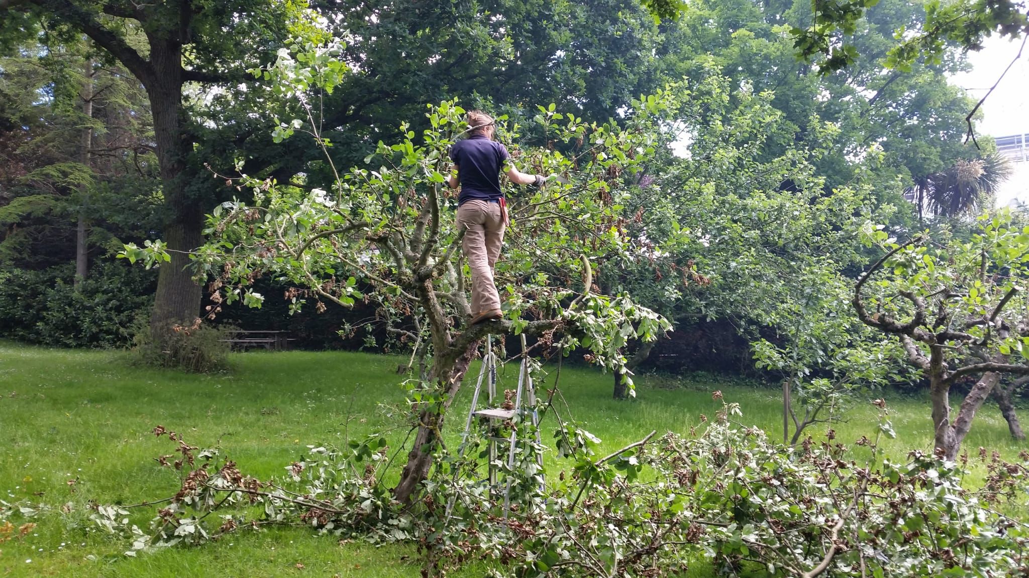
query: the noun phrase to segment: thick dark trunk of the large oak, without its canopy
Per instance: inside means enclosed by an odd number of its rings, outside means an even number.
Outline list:
[[[172,261],[161,267],[154,296],[150,331],[163,341],[175,324],[192,323],[200,314],[202,291],[193,282],[189,252],[204,242],[204,212],[186,193],[186,156],[189,140],[182,119],[182,47],[176,41],[150,39],[150,61],[154,77],[146,84],[153,112],[162,188],[167,220],[164,238]]]

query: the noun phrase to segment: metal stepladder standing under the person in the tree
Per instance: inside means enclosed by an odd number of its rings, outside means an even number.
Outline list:
[[[525,335],[521,337],[523,355],[519,366],[518,387],[513,393],[504,392],[504,395],[500,396],[497,395],[498,357],[493,348],[492,335],[487,337],[486,353],[475,381],[468,418],[461,434],[461,444],[458,447],[458,461],[461,462],[470,448],[482,446],[475,443],[476,440],[485,442],[486,448],[481,450],[478,459],[487,460],[487,477],[480,481],[486,483],[491,497],[499,497],[500,492],[503,492],[505,516],[511,507],[516,476],[510,473],[516,468],[524,466],[526,462],[530,462],[530,466],[534,463],[534,475],[538,479],[540,490],[544,484],[536,389],[529,371]],[[485,406],[481,407],[484,385],[486,400]],[[531,445],[532,439],[535,440],[535,446]],[[458,472],[455,471],[455,476],[457,475]],[[451,499],[447,508],[448,515],[453,511],[453,507],[454,499]]]

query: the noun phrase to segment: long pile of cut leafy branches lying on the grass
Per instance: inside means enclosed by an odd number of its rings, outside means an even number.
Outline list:
[[[286,475],[259,481],[217,450],[156,428],[176,445],[158,462],[181,472],[178,492],[149,504],[149,532],[130,527],[123,508],[98,507],[93,518],[130,536],[132,554],[270,523],[415,542],[426,576],[470,559],[497,576],[652,577],[697,564],[803,577],[1023,575],[1026,525],[1003,512],[1025,506],[1029,455],[1015,464],[982,451],[985,479],[966,487],[967,456],[882,458],[878,441],[892,429],[885,403],[876,403],[876,439],[853,447],[831,431],[821,443],[774,443],[724,402],[703,431],[651,433],[606,457],[593,453],[588,432],[560,423],[555,438],[567,461],[548,484],[539,483],[543,447],[531,426],[508,423],[527,449],[514,467],[499,465],[511,481],[506,507],[502,487],[476,481],[484,464],[453,456],[440,456],[419,500],[401,505],[383,481],[393,454],[384,437],[312,446]]]

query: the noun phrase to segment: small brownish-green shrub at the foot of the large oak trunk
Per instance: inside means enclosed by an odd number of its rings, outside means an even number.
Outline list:
[[[228,367],[229,345],[224,341],[232,327],[202,324],[176,326],[170,336],[157,342],[148,327],[136,331],[133,353],[138,363],[155,367],[173,367],[207,373]]]

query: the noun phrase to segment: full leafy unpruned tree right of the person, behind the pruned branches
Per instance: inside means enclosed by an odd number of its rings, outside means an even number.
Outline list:
[[[835,154],[835,124],[810,118],[817,146],[782,149],[801,131],[775,107],[776,95],[735,88],[713,65],[704,72],[634,104],[665,107],[688,147],[651,161],[627,201],[636,215],[628,226],[652,244],[647,258],[601,266],[600,285],[628,290],[677,323],[731,322],[759,365],[791,383],[794,409],[805,408],[793,416],[797,439],[896,367],[882,348],[851,352],[866,340],[854,331],[863,326],[840,313],[851,287],[843,272],[864,260],[870,216],[895,211],[877,206],[868,182],[884,153],[865,151],[850,186],[831,187],[816,164]],[[630,368],[648,346],[635,350]]]

